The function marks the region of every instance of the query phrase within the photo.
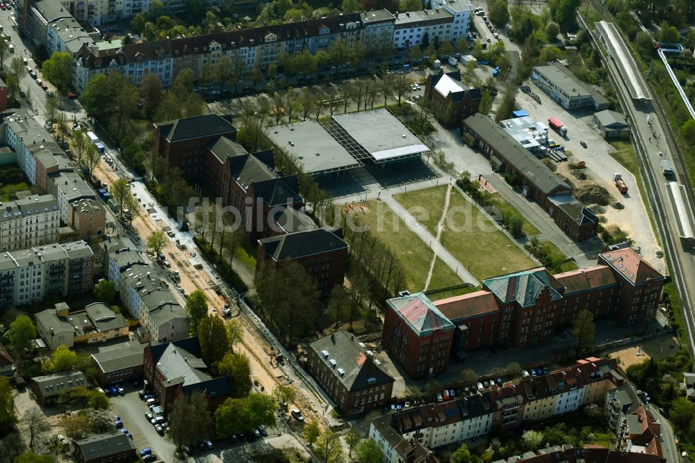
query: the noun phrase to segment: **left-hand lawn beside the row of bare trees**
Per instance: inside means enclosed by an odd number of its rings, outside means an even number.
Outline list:
[[[402,263],[407,289],[411,292],[423,291],[434,252],[405,225],[403,220],[396,216],[389,206],[376,200],[363,204],[366,205],[366,211],[352,213],[354,222],[358,225],[367,225],[379,241],[391,246],[391,250]],[[454,271],[439,262],[439,259],[434,263],[434,269],[430,288],[461,283],[461,279]]]

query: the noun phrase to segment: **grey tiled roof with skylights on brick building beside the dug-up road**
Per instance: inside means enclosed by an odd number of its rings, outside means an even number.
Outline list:
[[[309,344],[320,362],[325,362],[348,391],[393,382],[393,377],[373,362],[354,334],[336,331]]]

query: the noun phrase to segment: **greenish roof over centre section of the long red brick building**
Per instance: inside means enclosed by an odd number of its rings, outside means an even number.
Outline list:
[[[495,293],[503,304],[516,301],[528,307],[536,303],[543,291],[550,291],[550,300],[562,298],[558,292],[562,285],[543,267],[488,278],[482,285]]]

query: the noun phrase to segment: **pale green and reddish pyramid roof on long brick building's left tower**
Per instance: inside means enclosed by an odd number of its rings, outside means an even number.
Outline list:
[[[387,302],[418,336],[453,330],[455,327],[424,293],[393,298]]]

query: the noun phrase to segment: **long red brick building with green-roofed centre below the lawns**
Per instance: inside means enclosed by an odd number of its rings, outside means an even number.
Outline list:
[[[555,336],[558,327],[571,325],[583,309],[599,319],[639,323],[654,316],[665,282],[663,275],[628,248],[603,252],[596,266],[557,275],[541,267],[489,278],[480,291],[430,304],[437,310],[433,313],[443,319],[439,323],[457,327],[452,330],[450,354],[460,360],[466,350],[542,343]],[[418,327],[403,323],[393,307],[407,306],[411,298],[388,301],[382,339],[384,348],[409,374],[418,373],[409,365],[422,360],[420,351],[394,343],[398,339],[413,342]],[[421,304],[429,302],[424,295],[418,299]],[[396,325],[399,331],[394,329]]]

